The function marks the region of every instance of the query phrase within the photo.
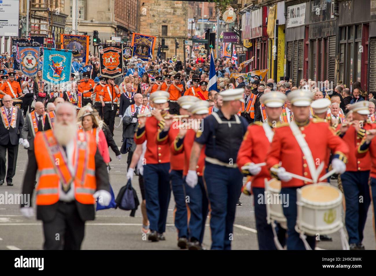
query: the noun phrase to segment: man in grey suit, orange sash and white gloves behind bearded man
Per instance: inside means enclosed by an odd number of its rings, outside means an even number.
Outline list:
[[[41,120],[44,119],[44,106],[42,102],[35,103],[35,110],[29,113],[25,118],[22,127],[21,138],[22,145],[27,149],[28,164],[23,180],[23,187],[35,187],[35,175],[37,164],[34,154],[34,137],[41,130]]]

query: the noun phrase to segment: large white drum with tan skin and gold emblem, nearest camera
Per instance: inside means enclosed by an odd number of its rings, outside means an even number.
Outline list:
[[[327,183],[297,189],[297,228],[308,235],[337,232],[342,223],[342,193]]]

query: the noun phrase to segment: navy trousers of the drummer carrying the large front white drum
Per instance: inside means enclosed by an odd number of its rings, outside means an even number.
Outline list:
[[[288,207],[283,207],[283,213],[287,219],[287,250],[305,250],[304,243],[299,237],[299,233],[295,231],[296,218],[297,218],[297,205],[296,205],[296,189],[299,187],[282,188],[282,196],[288,194]],[[315,237],[307,236],[307,242],[312,250],[315,249]]]

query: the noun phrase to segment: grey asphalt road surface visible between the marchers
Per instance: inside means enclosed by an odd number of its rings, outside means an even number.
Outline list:
[[[115,124],[119,124],[119,118],[116,118]],[[115,129],[114,140],[121,146],[121,126]],[[119,161],[115,158],[114,152],[110,149],[110,182],[115,196],[120,188],[126,184],[126,160],[127,156],[122,155]],[[13,179],[14,186],[0,186],[0,196],[9,193],[21,193],[21,186],[24,177],[24,171],[27,165],[27,151],[20,147],[18,149],[17,172]],[[139,192],[138,176],[133,177],[133,187]],[[336,185],[335,182],[332,182]],[[243,206],[237,207],[235,217],[232,249],[249,250],[258,249],[257,231],[255,225],[255,216],[253,208],[253,197],[241,195],[240,201]],[[35,195],[33,195],[33,206],[35,206]],[[165,241],[152,243],[147,240],[141,232],[142,216],[141,209],[138,208],[135,217],[130,217],[130,211],[120,209],[100,210],[97,212],[96,219],[86,223],[85,239],[82,249],[168,249],[180,250],[177,247],[177,231],[174,226],[174,197],[171,194],[170,205],[168,208],[167,226],[165,232]],[[363,244],[366,249],[375,249],[375,235],[373,230],[373,212],[368,212],[367,222],[364,231]],[[342,249],[339,232],[330,235],[333,241],[320,241],[316,244],[316,249]],[[38,250],[42,249],[43,230],[41,221],[36,219],[26,219],[19,211],[19,205],[2,204],[0,202],[0,249],[1,250]],[[205,237],[203,246],[210,249],[211,237],[209,227],[209,217],[206,220]]]

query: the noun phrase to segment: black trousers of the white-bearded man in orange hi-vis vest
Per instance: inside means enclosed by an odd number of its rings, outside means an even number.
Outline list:
[[[44,250],[80,250],[85,235],[76,203],[58,202],[55,218],[43,222]]]

